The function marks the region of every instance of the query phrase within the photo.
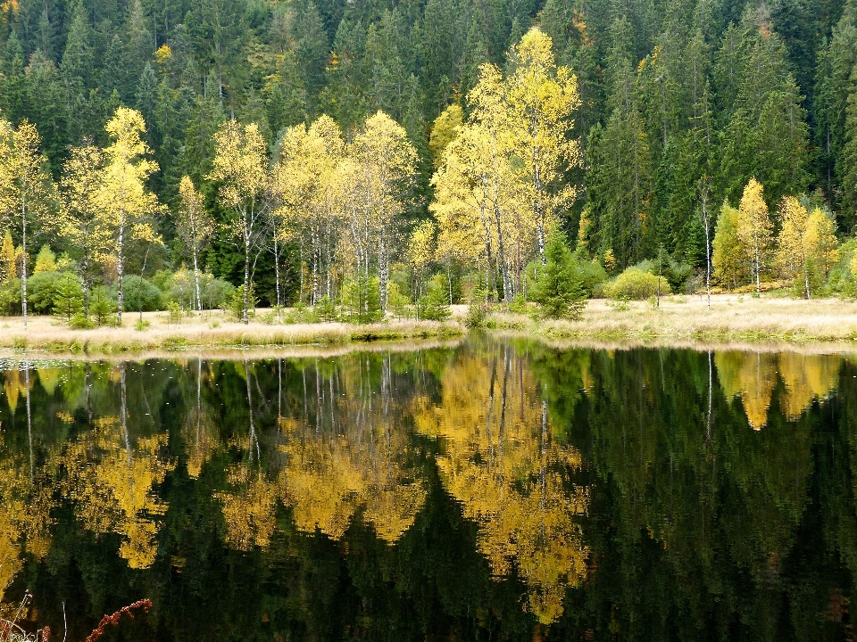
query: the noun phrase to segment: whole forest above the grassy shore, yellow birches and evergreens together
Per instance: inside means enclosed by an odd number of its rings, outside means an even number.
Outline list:
[[[853,293],[855,0],[0,9],[6,313]]]

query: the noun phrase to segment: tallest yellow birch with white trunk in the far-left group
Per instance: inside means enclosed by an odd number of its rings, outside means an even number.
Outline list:
[[[158,170],[147,158],[151,150],[142,135],[146,123],[142,114],[120,107],[107,123],[111,144],[104,151],[106,162],[102,170],[98,202],[100,224],[110,235],[116,255],[118,284],[117,321],[122,323],[125,298],[122,289],[125,277],[125,246],[129,239],[154,242],[154,218],[162,207],[157,197],[146,188],[146,179]]]

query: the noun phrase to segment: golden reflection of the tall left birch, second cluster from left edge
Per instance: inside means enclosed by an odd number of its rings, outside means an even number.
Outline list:
[[[97,533],[121,534],[120,555],[131,568],[154,563],[157,525],[152,518],[167,506],[153,486],[173,468],[160,457],[167,439],[162,433],[132,443],[119,418],[104,417],[66,450],[68,496],[76,502],[79,520]]]

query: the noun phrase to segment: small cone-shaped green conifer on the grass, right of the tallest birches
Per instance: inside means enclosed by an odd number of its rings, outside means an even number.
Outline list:
[[[533,285],[533,300],[545,317],[579,318],[587,305],[587,295],[561,233],[553,232],[548,238],[545,261]]]

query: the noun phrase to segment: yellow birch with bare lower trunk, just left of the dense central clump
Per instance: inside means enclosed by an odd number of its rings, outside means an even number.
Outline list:
[[[255,123],[241,125],[232,119],[214,135],[214,161],[210,180],[220,182],[220,203],[232,210],[230,226],[244,250],[244,303],[241,320],[249,323],[251,255],[262,250],[275,202],[275,184],[265,140]],[[255,267],[255,258],[254,258]]]

